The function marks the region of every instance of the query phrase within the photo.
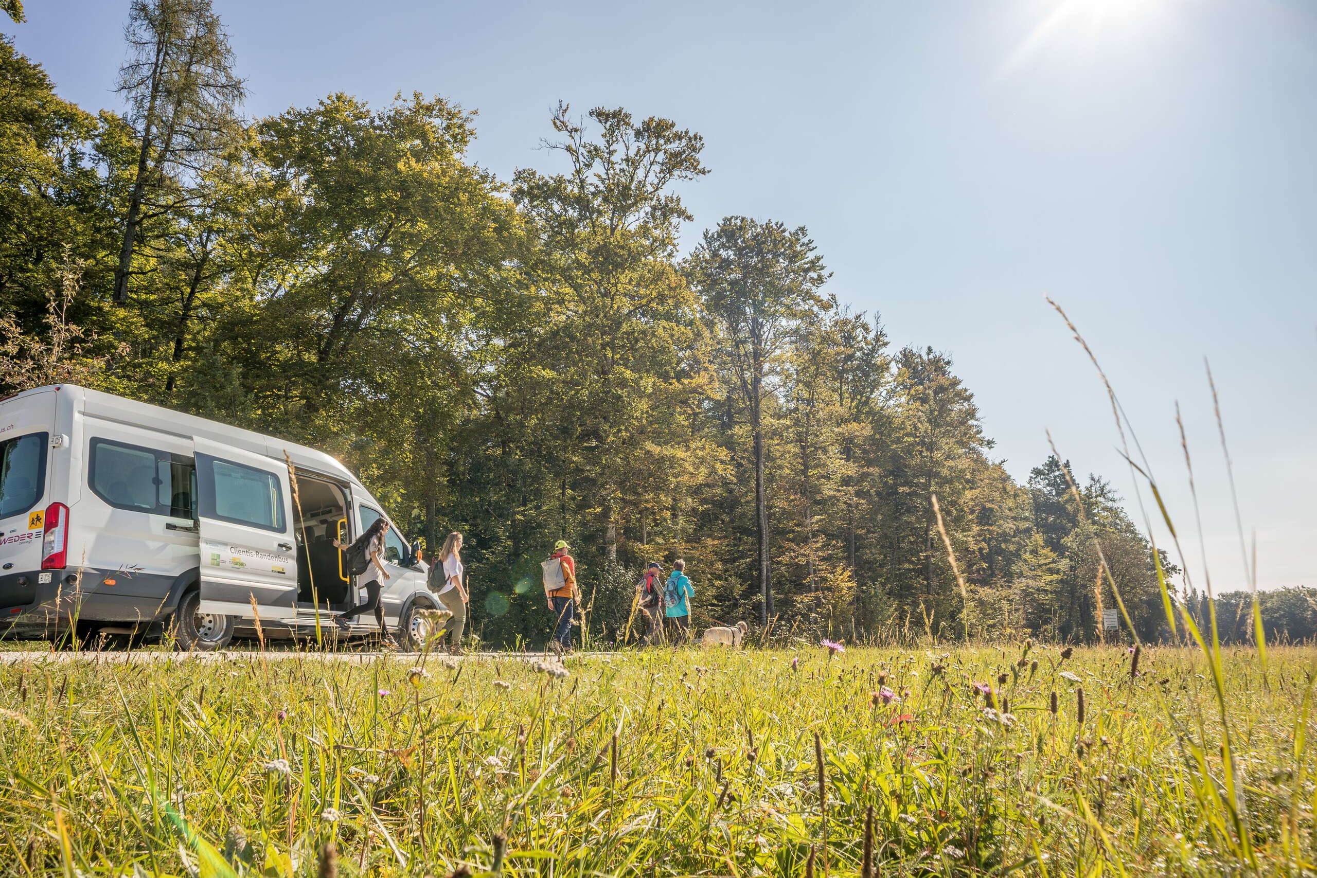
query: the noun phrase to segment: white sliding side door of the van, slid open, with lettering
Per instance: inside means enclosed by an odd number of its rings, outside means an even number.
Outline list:
[[[196,438],[202,612],[290,620],[298,555],[288,467]]]

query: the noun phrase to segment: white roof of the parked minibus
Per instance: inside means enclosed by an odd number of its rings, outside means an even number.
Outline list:
[[[212,421],[205,417],[175,412],[174,409],[165,408],[162,405],[151,405],[150,403],[128,399],[126,396],[105,394],[99,390],[79,387],[78,384],[47,384],[45,387],[26,390],[8,399],[13,400],[50,390],[70,394],[75,398],[75,400],[80,398],[82,405],[79,408],[86,415],[124,421],[136,426],[145,426],[162,433],[173,433],[175,436],[199,436],[212,442],[223,442],[254,454],[263,454],[265,457],[281,462],[283,461],[283,455],[287,454],[288,459],[298,466],[309,470],[319,470],[325,475],[336,475],[353,484],[361,486],[361,482],[357,480],[348,467],[324,452],[317,452],[313,448],[298,445],[296,442],[288,442],[287,440],[281,440],[275,436],[266,436],[265,433],[246,430],[241,426],[233,426],[230,424]]]

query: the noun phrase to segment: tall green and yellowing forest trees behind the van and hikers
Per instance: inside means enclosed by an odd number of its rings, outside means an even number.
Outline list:
[[[431,553],[465,532],[490,644],[544,641],[560,537],[595,641],[633,634],[644,563],[677,558],[697,624],[756,637],[1089,642],[1113,581],[1171,636],[1110,487],[1076,500],[1056,459],[1015,484],[951,359],[889,350],[806,229],[732,216],[678,258],[699,134],[560,105],[547,167],[503,182],[444,97],[240,124],[205,0],[137,0],[128,38],[124,117],[0,41],[5,388],[78,380],[340,457]]]

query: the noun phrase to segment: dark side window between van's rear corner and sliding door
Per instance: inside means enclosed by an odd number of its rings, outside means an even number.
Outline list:
[[[87,480],[116,509],[196,517],[196,467],[180,454],[96,437]]]

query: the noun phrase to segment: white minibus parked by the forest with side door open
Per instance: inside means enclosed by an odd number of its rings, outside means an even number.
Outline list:
[[[315,449],[74,384],[24,391],[0,400],[0,636],[215,650],[257,624],[311,637],[319,623],[328,638],[358,599],[333,541],[381,516]],[[392,520],[385,546],[385,621],[416,648],[441,604]],[[377,629],[365,613],[349,633]]]

